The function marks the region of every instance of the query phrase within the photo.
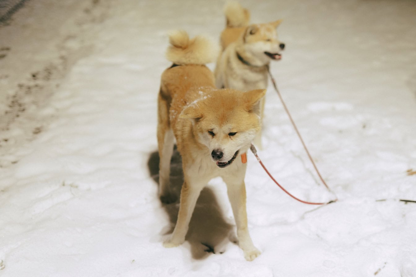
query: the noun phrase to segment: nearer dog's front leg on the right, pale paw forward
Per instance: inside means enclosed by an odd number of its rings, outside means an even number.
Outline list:
[[[235,223],[237,225],[238,244],[244,252],[245,259],[252,261],[260,255],[260,251],[253,245],[250,233],[248,232],[244,180],[236,182],[232,178],[223,179],[227,184],[227,194],[230,199],[231,208],[233,208]]]

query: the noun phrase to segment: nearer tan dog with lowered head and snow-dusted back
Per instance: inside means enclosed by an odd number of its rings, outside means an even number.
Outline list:
[[[247,227],[245,152],[260,129],[260,99],[265,89],[247,92],[215,88],[212,71],[218,46],[185,31],[170,34],[166,52],[173,65],[161,76],[158,95],[159,197],[175,201],[169,189],[169,164],[174,141],[182,157],[184,182],[176,226],[163,245],[184,242],[198,196],[208,181],[220,176],[228,189],[239,246],[246,260],[260,255]],[[218,49],[219,50],[219,49]],[[241,155],[241,159],[240,159]]]

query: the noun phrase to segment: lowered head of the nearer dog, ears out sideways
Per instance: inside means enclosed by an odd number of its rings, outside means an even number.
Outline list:
[[[260,130],[260,100],[265,89],[241,92],[233,89],[198,91],[201,96],[182,111],[192,120],[193,135],[208,147],[218,167],[230,165],[251,144]]]

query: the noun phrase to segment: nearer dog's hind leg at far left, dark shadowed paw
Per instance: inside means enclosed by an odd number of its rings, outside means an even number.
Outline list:
[[[169,176],[171,174],[171,158],[175,138],[169,124],[169,104],[161,95],[158,98],[158,150],[159,150],[159,198],[163,203],[175,202],[177,197],[173,195]]]

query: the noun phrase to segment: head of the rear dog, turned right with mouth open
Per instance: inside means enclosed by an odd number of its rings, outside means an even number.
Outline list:
[[[243,34],[245,51],[265,64],[270,60],[281,59],[280,52],[285,48],[285,44],[277,39],[276,32],[281,22],[282,20],[277,20],[248,26]]]

